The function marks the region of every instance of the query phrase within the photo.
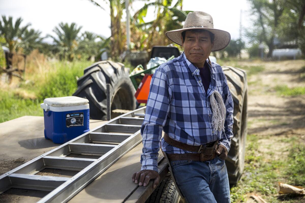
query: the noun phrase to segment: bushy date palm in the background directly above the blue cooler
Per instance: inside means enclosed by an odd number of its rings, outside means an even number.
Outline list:
[[[67,58],[69,61],[73,61],[75,58],[80,40],[78,35],[81,28],[82,26],[77,27],[76,23],[69,25],[68,23],[64,24],[61,22],[53,29],[56,37],[48,35],[53,38],[61,59]]]

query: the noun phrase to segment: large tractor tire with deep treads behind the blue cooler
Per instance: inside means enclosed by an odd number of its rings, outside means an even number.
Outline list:
[[[73,94],[89,100],[91,119],[104,120],[107,117],[107,83],[110,84],[111,110],[136,108],[135,87],[129,78],[129,68],[118,62],[99,61],[84,70]],[[116,116],[112,114],[111,117]]]

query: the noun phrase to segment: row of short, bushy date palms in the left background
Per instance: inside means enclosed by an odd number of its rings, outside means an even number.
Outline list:
[[[48,56],[56,56],[59,59],[73,61],[81,57],[96,56],[102,48],[109,44],[107,39],[85,31],[81,33],[81,26],[76,23],[59,23],[53,29],[55,36],[48,34],[41,37],[39,30],[29,28],[30,23],[20,26],[22,18],[13,22],[13,17],[2,16],[0,20],[0,34],[4,40],[2,45],[7,46],[10,52],[22,52],[30,54],[34,49]],[[43,41],[44,38],[51,37],[53,44]],[[99,39],[99,40],[98,40]]]

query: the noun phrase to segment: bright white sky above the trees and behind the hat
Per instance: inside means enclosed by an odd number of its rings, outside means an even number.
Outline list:
[[[30,28],[40,30],[42,36],[54,35],[52,30],[60,22],[77,23],[82,26],[81,32],[90,31],[104,37],[110,37],[110,9],[104,0],[96,0],[101,8],[88,0],[0,0],[0,15],[23,19],[22,25],[31,23]],[[146,3],[149,1],[146,1]],[[176,2],[175,0],[173,1]],[[130,8],[131,15],[145,4],[135,0]],[[242,26],[249,27],[249,3],[246,0],[184,0],[183,10],[204,11],[213,17],[214,28],[228,31],[232,39],[239,38],[240,12]],[[124,15],[126,18],[126,15]],[[154,9],[147,11],[144,21],[154,19]],[[1,18],[2,21],[2,18]],[[51,38],[45,41],[52,42]]]

